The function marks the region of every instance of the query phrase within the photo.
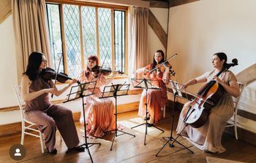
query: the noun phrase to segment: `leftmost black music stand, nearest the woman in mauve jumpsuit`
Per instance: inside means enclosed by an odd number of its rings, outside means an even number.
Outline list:
[[[86,150],[88,151],[88,154],[90,156],[91,162],[94,162],[92,160],[91,157],[91,153],[89,151],[89,148],[91,146],[94,146],[96,144],[98,144],[99,146],[101,145],[101,143],[88,143],[87,142],[87,135],[86,135],[86,115],[85,115],[85,111],[84,111],[84,106],[86,105],[86,103],[84,102],[85,97],[89,96],[89,95],[94,95],[94,90],[96,87],[96,81],[91,81],[91,82],[86,82],[83,84],[78,84],[76,86],[71,87],[69,94],[67,95],[67,101],[65,101],[64,103],[67,103],[71,100],[76,100],[78,98],[82,98],[83,101],[83,126],[84,126],[84,132],[85,132],[85,143],[83,143],[80,146],[84,146],[84,148],[86,148]]]

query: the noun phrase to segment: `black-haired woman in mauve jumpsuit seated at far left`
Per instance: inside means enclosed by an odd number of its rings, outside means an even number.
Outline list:
[[[56,127],[58,128],[67,151],[84,151],[83,147],[78,146],[79,138],[72,118],[72,111],[63,106],[50,103],[49,93],[61,95],[72,84],[75,79],[62,90],[53,88],[52,80],[45,80],[41,76],[41,71],[47,66],[45,55],[40,52],[32,52],[29,55],[29,63],[26,72],[21,78],[21,93],[26,102],[25,116],[34,124],[37,124],[42,131],[45,145],[50,154],[56,154]]]

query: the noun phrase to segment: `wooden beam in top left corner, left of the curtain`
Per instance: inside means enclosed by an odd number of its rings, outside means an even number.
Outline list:
[[[0,24],[12,13],[12,1],[1,0],[0,3]]]

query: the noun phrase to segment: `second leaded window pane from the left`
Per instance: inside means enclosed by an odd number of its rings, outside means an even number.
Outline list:
[[[69,76],[78,77],[81,67],[78,6],[64,5],[64,30]]]

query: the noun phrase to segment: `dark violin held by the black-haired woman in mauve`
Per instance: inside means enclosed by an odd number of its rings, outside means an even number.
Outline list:
[[[61,83],[64,83],[67,80],[72,80],[72,78],[67,76],[66,73],[56,73],[56,71],[53,70],[52,68],[43,69],[42,72],[41,72],[41,76],[42,76],[42,79],[45,79],[46,81],[56,79],[56,81],[59,81]]]

